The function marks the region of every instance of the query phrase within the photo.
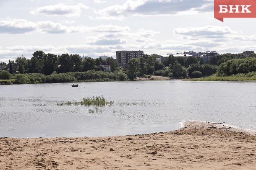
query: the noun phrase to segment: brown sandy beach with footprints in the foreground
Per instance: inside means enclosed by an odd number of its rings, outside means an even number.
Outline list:
[[[248,133],[189,121],[143,135],[0,138],[0,170],[256,170],[256,136]]]

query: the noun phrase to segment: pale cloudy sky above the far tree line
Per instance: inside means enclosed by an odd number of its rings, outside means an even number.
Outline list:
[[[0,62],[44,53],[116,58],[256,51],[256,18],[214,18],[214,0],[0,0]]]

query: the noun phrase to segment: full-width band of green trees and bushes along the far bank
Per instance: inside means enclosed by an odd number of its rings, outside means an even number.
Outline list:
[[[102,59],[90,57],[82,61],[78,54],[44,54],[42,51],[33,53],[31,59],[18,57],[18,75],[11,72],[0,72],[0,79],[15,79],[17,84],[72,81],[117,81],[133,80],[135,77],[150,77],[150,75],[168,76],[171,78],[200,78],[213,75],[230,76],[239,73],[256,71],[256,54],[248,57],[243,54],[220,54],[212,56],[208,64],[201,57],[174,57],[169,55],[163,63],[156,62],[157,54],[144,55],[139,59],[128,61],[128,70],[118,67],[115,59],[108,57],[111,72],[95,71],[95,65],[100,65]],[[5,63],[0,63],[0,65]],[[9,67],[14,62],[9,62]],[[7,64],[5,64],[7,65]],[[12,69],[10,69],[12,70]],[[23,75],[26,73],[25,75]]]

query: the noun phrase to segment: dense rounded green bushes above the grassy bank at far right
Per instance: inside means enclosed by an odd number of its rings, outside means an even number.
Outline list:
[[[218,76],[230,76],[238,73],[248,73],[256,71],[256,58],[233,59],[219,65]]]

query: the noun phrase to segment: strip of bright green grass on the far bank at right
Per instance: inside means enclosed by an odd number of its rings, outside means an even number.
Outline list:
[[[209,77],[184,79],[189,81],[256,81],[256,72],[239,73],[231,76],[217,76],[216,74]]]

